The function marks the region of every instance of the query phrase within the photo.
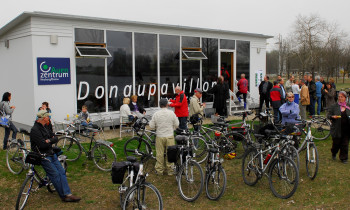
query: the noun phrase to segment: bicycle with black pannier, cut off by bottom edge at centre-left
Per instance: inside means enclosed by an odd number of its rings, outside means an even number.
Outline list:
[[[163,209],[160,192],[153,184],[146,182],[148,173],[145,172],[144,163],[150,158],[152,155],[144,154],[137,162],[136,157],[128,156],[126,161],[113,163],[112,182],[121,184],[118,191],[122,209]],[[126,171],[128,173],[123,180]]]

